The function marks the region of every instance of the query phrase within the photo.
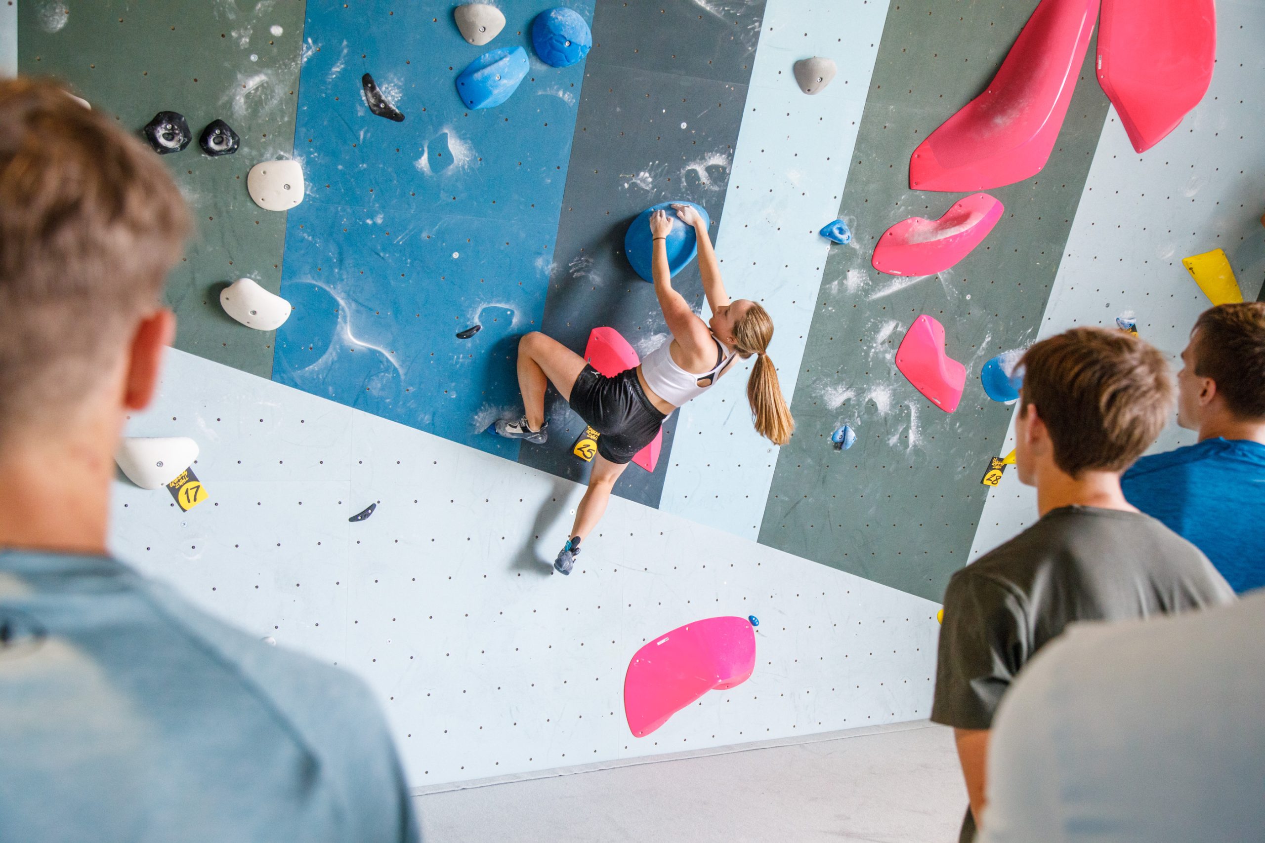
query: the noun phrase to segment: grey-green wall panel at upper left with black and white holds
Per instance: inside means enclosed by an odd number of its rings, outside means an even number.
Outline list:
[[[54,76],[92,107],[137,130],[158,111],[185,115],[194,142],[163,155],[197,226],[172,272],[167,301],[178,318],[176,348],[252,374],[272,373],[271,331],[229,318],[220,289],[249,277],[281,284],[286,214],[250,201],[245,176],[288,154],[295,135],[302,3],[23,0],[18,68]],[[215,119],[242,138],[211,158],[197,135]]]

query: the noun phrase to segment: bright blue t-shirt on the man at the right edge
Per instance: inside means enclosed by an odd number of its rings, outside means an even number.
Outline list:
[[[1217,437],[1144,456],[1121,488],[1202,550],[1236,593],[1265,585],[1265,445]]]

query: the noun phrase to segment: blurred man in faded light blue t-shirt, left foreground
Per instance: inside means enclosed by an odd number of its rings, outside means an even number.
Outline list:
[[[415,840],[364,685],[105,550],[187,231],[162,162],[113,118],[0,82],[0,840]]]

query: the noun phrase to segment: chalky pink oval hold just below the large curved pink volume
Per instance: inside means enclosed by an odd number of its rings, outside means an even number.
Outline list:
[[[883,233],[870,263],[889,276],[931,276],[966,257],[1006,209],[988,193],[954,202],[939,220],[911,216]]]

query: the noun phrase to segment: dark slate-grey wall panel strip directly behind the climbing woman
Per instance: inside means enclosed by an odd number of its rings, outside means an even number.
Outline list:
[[[645,354],[667,339],[651,284],[624,255],[629,222],[657,202],[688,200],[720,222],[737,143],[763,0],[598,3],[593,49],[576,121],[571,166],[541,330],[577,353],[600,325]],[[697,263],[673,284],[700,310]],[[584,425],[550,392],[550,439],[519,461],[578,479],[572,455]],[[677,415],[664,423],[654,474],[630,466],[616,494],[658,506]]]

